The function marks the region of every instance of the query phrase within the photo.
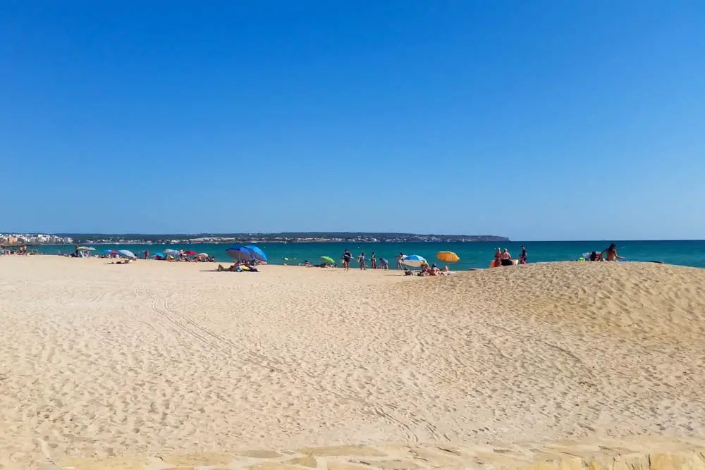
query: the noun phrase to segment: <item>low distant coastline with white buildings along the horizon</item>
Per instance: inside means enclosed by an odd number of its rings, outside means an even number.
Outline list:
[[[171,235],[98,233],[0,233],[0,245],[172,245],[188,243],[307,243],[307,242],[508,242],[496,235],[418,235],[414,233],[197,233]]]

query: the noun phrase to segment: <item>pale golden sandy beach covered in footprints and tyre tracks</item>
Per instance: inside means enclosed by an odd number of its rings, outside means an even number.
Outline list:
[[[702,269],[108,262],[0,256],[0,466],[705,435]]]

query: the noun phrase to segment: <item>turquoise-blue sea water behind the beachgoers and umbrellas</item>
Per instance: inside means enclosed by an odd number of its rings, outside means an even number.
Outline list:
[[[668,264],[683,266],[696,266],[705,268],[705,240],[680,240],[680,241],[615,241],[620,256],[625,256],[627,261],[663,261]],[[520,246],[525,245],[528,252],[528,261],[570,261],[582,256],[585,252],[601,251],[608,247],[610,242],[465,242],[465,243],[262,243],[257,246],[264,250],[270,264],[302,264],[305,260],[318,263],[320,256],[331,256],[339,260],[345,248],[350,249],[353,256],[360,252],[369,256],[375,252],[389,261],[394,268],[395,256],[399,253],[419,254],[430,263],[436,260],[436,252],[450,251],[460,256],[460,261],[453,264],[453,270],[469,268],[486,268],[494,255],[497,247],[507,248],[514,258],[520,254]],[[145,249],[150,254],[163,251],[166,248],[185,250],[192,249],[197,253],[206,252],[216,257],[217,261],[230,261],[225,250],[231,244],[190,244],[190,245],[94,245],[96,251],[101,253],[104,249],[129,249],[137,256],[142,256]],[[71,253],[74,245],[43,245],[39,252],[47,254]],[[357,266],[353,263],[351,266]]]

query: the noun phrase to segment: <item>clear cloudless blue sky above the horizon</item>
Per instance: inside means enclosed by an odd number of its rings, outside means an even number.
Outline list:
[[[700,0],[4,2],[0,231],[705,238],[704,24]]]

